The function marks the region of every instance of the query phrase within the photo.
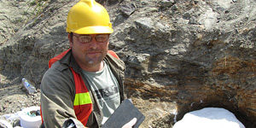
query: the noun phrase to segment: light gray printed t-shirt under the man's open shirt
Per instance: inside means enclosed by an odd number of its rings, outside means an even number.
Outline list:
[[[83,73],[102,108],[102,124],[104,124],[120,104],[119,84],[117,79],[114,77],[105,61],[102,71],[87,72],[83,70]]]

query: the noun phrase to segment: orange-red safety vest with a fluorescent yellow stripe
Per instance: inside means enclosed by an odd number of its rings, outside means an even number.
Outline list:
[[[67,49],[66,51],[62,52],[60,55],[55,56],[54,58],[49,60],[49,67],[51,67],[55,61],[61,60],[61,58],[67,54],[67,52],[70,49]],[[119,59],[119,56],[113,52],[113,50],[108,50],[108,53],[110,55],[113,55],[113,57]],[[84,81],[79,73],[76,73],[73,70],[73,67],[70,67],[72,73],[73,73],[73,79],[75,83],[76,88],[76,95],[73,102],[73,109],[75,111],[75,114],[77,116],[77,119],[86,126],[88,118],[90,116],[90,113],[92,112],[92,102],[90,98],[90,93],[87,90]],[[41,112],[42,113],[42,112]],[[43,122],[43,115],[41,114],[42,122]]]

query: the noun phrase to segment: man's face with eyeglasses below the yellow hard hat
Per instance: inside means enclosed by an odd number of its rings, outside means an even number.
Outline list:
[[[73,33],[73,40],[70,36],[71,34],[68,35],[69,44],[80,67],[94,67],[101,64],[108,53],[109,34],[79,35]]]

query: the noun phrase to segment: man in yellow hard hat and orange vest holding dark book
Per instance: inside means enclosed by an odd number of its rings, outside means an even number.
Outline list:
[[[70,119],[76,127],[101,127],[125,99],[125,63],[108,51],[113,29],[107,10],[80,0],[67,15],[67,32],[71,49],[49,61],[41,82],[42,127]]]

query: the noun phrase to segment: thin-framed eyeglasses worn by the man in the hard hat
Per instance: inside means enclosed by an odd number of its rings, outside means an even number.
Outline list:
[[[91,42],[92,38],[95,38],[98,43],[105,43],[108,41],[109,34],[99,34],[96,37],[91,37],[90,35],[81,35],[76,36],[73,34],[74,37],[79,38],[79,42],[83,44],[88,44]]]

